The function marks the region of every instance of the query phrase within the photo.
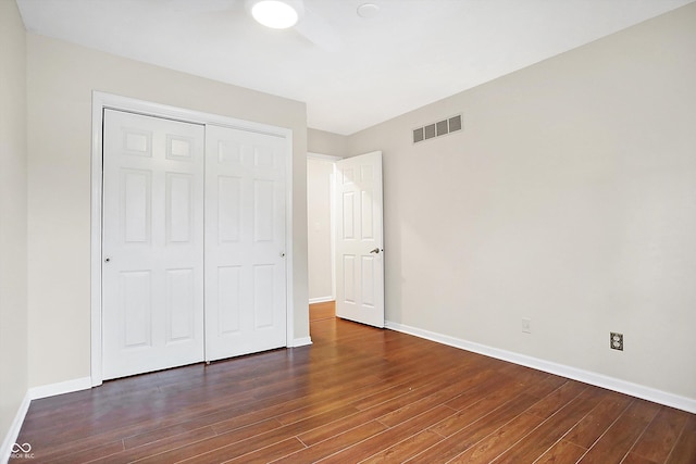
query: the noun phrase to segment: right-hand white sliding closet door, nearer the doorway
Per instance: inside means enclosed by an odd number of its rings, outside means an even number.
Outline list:
[[[286,140],[206,128],[206,359],[285,347]]]

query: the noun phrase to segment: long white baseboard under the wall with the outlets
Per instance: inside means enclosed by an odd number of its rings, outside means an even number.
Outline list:
[[[436,341],[438,343],[448,344],[450,347],[472,351],[474,353],[496,358],[498,360],[508,361],[538,371],[544,371],[549,374],[559,375],[561,377],[572,378],[573,380],[583,381],[585,384],[591,384],[597,387],[630,394],[636,398],[642,398],[644,400],[652,401],[655,403],[664,404],[667,406],[676,407],[679,410],[696,414],[696,399],[693,398],[681,397],[674,393],[669,393],[667,391],[645,387],[643,385],[633,384],[631,381],[621,380],[619,378],[609,377],[591,371],[584,371],[563,364],[552,363],[549,361],[540,360],[538,358],[526,356],[524,354],[500,350],[485,344],[462,340],[460,338],[450,337],[417,327],[410,327],[390,321],[386,322],[385,327],[391,330],[401,331],[403,334],[413,335],[415,337]]]

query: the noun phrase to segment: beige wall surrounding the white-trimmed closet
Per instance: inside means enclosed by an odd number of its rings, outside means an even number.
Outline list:
[[[90,374],[91,91],[293,129],[295,336],[307,308],[306,105],[27,35],[29,386]]]

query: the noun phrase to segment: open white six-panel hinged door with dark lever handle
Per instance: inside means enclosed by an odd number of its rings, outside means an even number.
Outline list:
[[[382,152],[336,162],[336,315],[384,327]]]

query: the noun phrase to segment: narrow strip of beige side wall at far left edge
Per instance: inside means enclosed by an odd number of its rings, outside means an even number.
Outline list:
[[[0,443],[27,391],[25,57],[16,4],[0,1]]]

